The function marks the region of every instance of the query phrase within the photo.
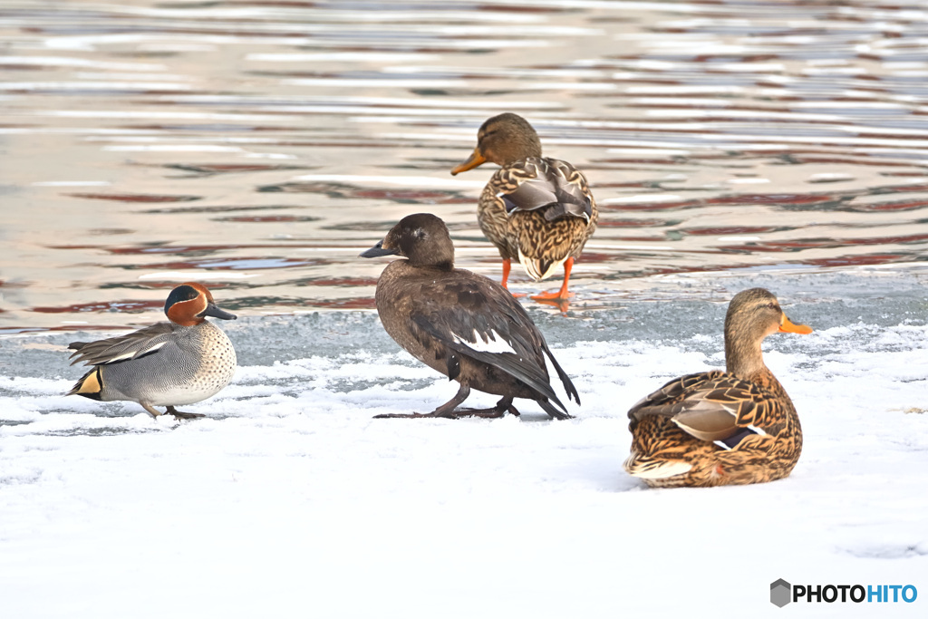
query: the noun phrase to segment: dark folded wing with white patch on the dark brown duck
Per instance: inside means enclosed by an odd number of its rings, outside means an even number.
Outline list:
[[[507,290],[485,277],[437,280],[413,303],[410,319],[412,336],[426,348],[437,340],[447,351],[445,363],[449,379],[460,372],[458,355],[499,368],[532,388],[539,397],[550,400],[556,417],[567,415],[566,407],[550,386],[545,356],[563,383],[568,398],[579,404],[574,383],[551,354],[541,331]],[[492,285],[491,285],[492,284]],[[497,290],[498,289],[498,290]],[[441,303],[452,299],[455,303]],[[543,407],[544,404],[542,404]],[[545,407],[548,410],[548,407]],[[551,410],[548,410],[550,413]]]

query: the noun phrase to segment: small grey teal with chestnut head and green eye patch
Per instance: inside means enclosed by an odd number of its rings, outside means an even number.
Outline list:
[[[220,309],[213,294],[194,282],[171,290],[164,302],[171,322],[159,322],[127,335],[97,342],[71,342],[71,365],[93,366],[68,392],[92,400],[126,400],[142,405],[153,417],[167,406],[175,419],[203,417],[174,408],[195,404],[219,393],[236,369],[235,348],[226,333],[206,316],[235,320]]]

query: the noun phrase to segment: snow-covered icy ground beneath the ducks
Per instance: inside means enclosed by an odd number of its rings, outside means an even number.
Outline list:
[[[926,276],[703,274],[568,317],[529,305],[583,399],[560,422],[525,401],[522,419],[371,419],[456,386],[370,312],[224,323],[238,374],[183,423],[63,397],[75,333],[7,337],[0,615],[925,616]],[[728,298],[754,285],[816,329],[765,346],[802,419],[798,466],[645,488],[621,469],[625,411],[722,366]],[[778,578],[919,598],[780,609]]]

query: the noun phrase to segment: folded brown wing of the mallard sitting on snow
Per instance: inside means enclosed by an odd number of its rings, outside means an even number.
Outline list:
[[[766,434],[761,425],[777,417],[778,401],[760,385],[714,370],[671,380],[628,411],[633,426],[649,415],[670,418],[702,441],[737,445],[748,434]]]

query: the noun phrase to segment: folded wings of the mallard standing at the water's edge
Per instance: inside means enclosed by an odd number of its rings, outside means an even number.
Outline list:
[[[529,157],[500,171],[497,196],[506,214],[516,211],[545,211],[545,219],[582,217],[588,223],[593,202],[584,175],[567,161]]]

